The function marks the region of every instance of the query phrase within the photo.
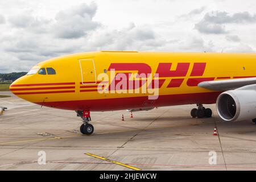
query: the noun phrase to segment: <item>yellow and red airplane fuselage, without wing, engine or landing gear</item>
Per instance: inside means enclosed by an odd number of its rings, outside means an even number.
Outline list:
[[[214,104],[221,92],[200,88],[197,86],[200,82],[255,77],[255,65],[256,55],[245,53],[77,53],[35,65],[35,70],[46,68],[46,74],[36,72],[23,76],[13,82],[10,90],[24,100],[68,110]],[[50,69],[47,68],[54,69],[56,74],[48,74]],[[134,73],[135,80],[140,80],[137,85],[129,73]],[[140,74],[144,77],[139,78],[137,75]],[[102,81],[102,75],[108,76],[109,80]],[[126,86],[121,85],[124,80],[120,76],[124,75],[127,76]],[[156,98],[149,99],[152,93],[139,91],[147,85],[143,80],[148,80],[149,85],[150,82],[154,85],[157,80],[157,86],[153,86],[158,89]]]

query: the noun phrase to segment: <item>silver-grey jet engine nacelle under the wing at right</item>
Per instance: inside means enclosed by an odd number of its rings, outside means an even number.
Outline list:
[[[228,90],[218,96],[216,109],[225,121],[241,121],[256,118],[256,91],[241,89]]]

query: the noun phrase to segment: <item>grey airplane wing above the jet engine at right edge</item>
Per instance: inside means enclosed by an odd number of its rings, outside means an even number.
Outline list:
[[[214,81],[203,81],[197,86],[210,90],[233,90],[246,85],[256,84],[256,77],[252,78],[236,78],[229,80],[214,80]]]

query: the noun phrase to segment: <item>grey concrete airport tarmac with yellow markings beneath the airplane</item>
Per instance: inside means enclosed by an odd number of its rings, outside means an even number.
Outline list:
[[[0,170],[256,170],[256,125],[191,118],[195,105],[92,112],[82,135],[75,111],[0,98]],[[125,121],[122,121],[122,114]],[[213,135],[217,127],[217,136]],[[45,160],[44,160],[45,159]]]

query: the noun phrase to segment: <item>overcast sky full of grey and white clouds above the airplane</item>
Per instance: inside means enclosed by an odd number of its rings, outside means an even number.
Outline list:
[[[0,32],[0,73],[97,50],[256,52],[256,1],[0,1]]]

